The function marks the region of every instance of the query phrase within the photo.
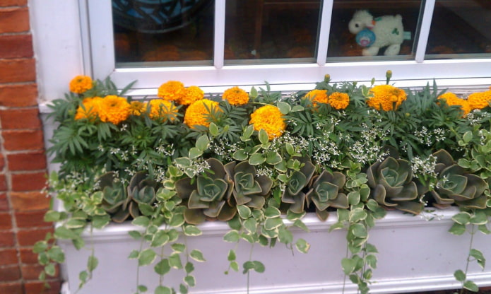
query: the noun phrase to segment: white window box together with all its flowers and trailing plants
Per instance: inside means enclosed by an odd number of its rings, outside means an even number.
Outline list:
[[[40,279],[65,263],[73,293],[489,285],[491,90],[390,78],[206,96],[167,81],[145,100],[73,78],[49,114],[61,208]]]

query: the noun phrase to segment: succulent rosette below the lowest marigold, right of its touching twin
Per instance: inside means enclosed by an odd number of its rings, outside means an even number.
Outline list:
[[[264,206],[265,196],[271,192],[273,180],[264,175],[256,175],[256,167],[247,161],[238,164],[235,161],[227,163],[225,172],[234,182],[232,195],[236,205],[246,205],[257,209]]]

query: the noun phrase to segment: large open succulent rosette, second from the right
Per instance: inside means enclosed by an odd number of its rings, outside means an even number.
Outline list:
[[[418,196],[427,189],[413,180],[408,160],[389,156],[377,161],[368,167],[367,179],[372,189],[370,196],[380,205],[414,214],[422,211],[424,204],[418,201]]]

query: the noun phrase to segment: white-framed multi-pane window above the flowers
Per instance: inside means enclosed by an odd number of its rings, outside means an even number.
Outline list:
[[[442,87],[491,84],[488,0],[78,1],[54,1],[71,7],[53,18],[43,7],[42,18],[61,31],[77,13],[76,61],[85,73],[110,75],[119,86],[138,80],[134,95],[155,95],[168,80],[206,92],[264,81],[273,90],[300,90],[327,73],[333,81],[368,82],[383,80],[388,69],[401,87],[425,86],[434,78]],[[360,54],[357,35],[348,30],[358,10],[376,19],[401,15],[397,54],[386,56],[384,48]]]

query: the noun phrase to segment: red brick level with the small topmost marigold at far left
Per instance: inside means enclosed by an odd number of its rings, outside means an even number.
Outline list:
[[[37,106],[37,85],[0,85],[0,106],[29,107]]]

